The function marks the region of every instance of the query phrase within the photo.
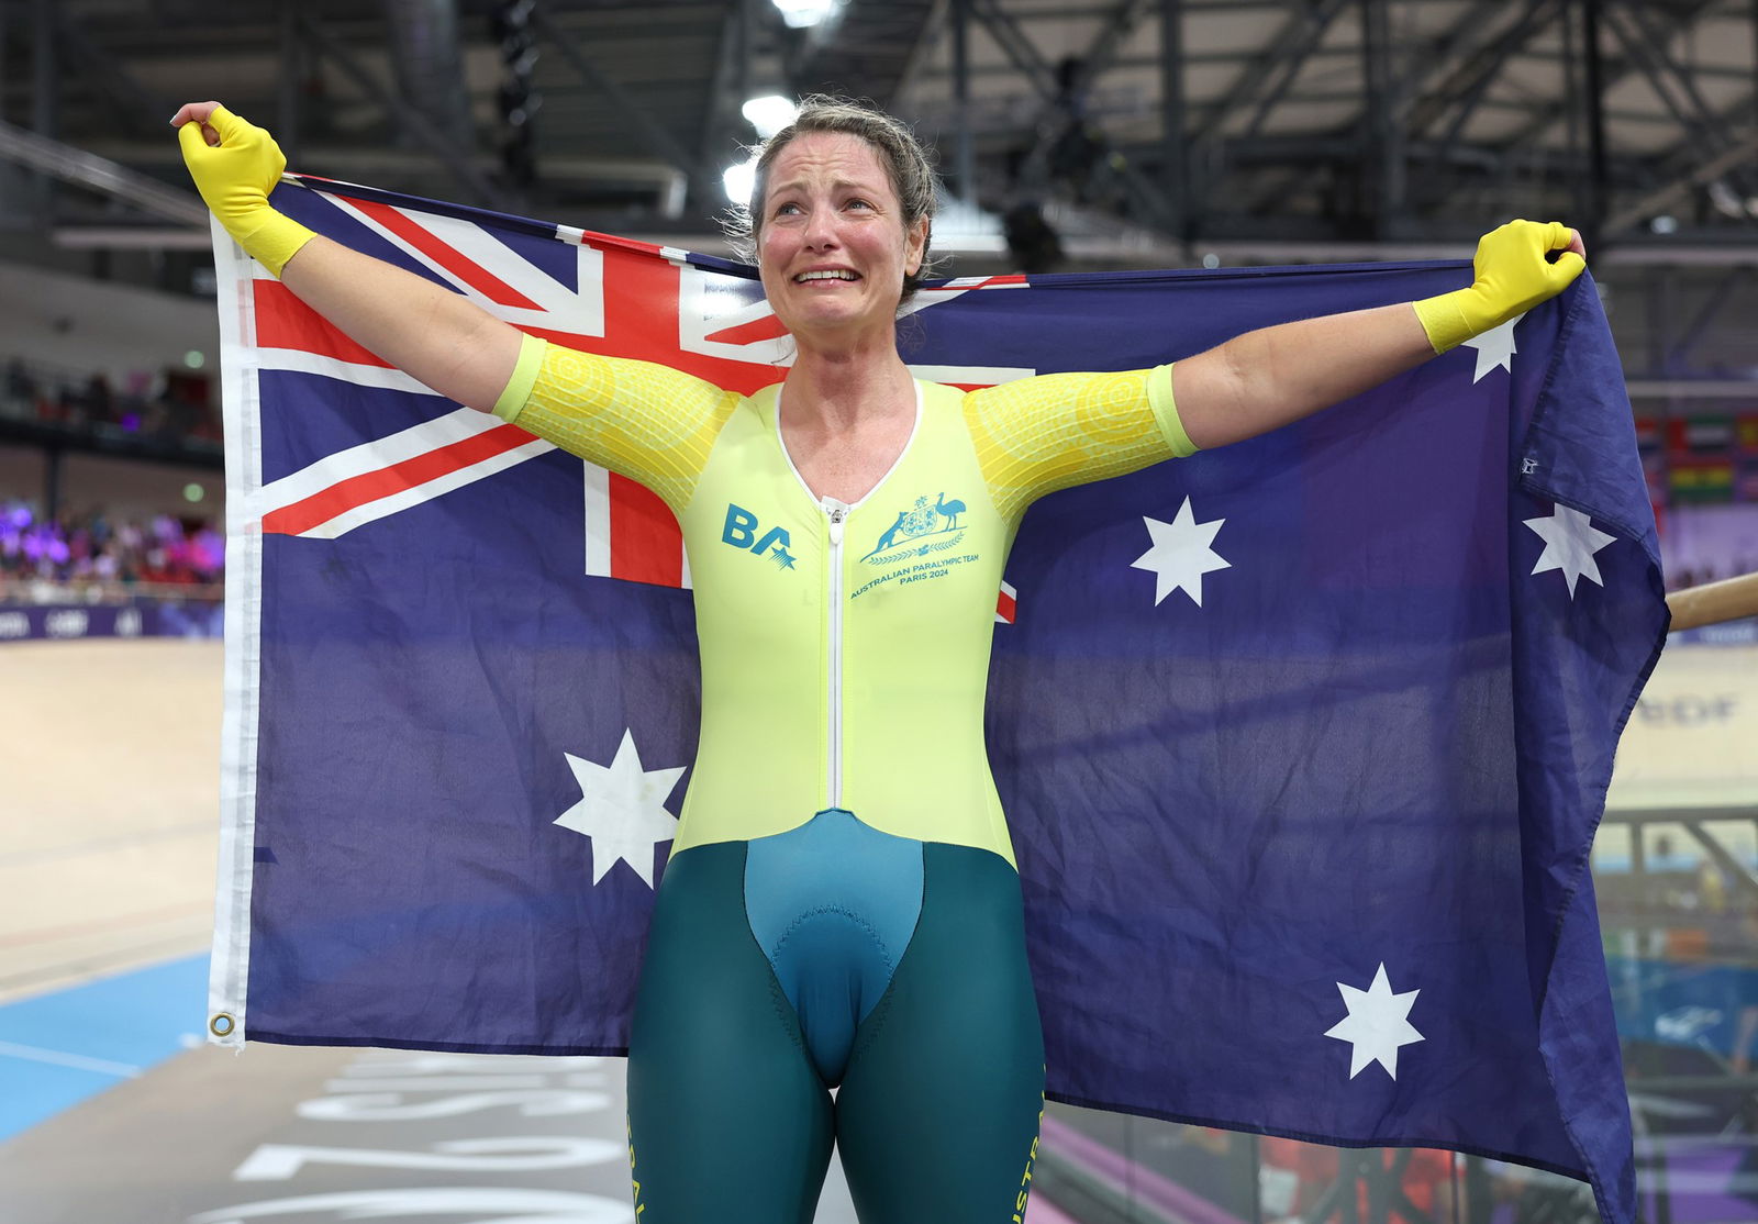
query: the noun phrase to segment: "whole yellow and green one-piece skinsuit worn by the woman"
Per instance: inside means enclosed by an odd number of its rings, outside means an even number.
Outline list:
[[[1192,450],[1171,368],[960,392],[854,505],[814,498],[779,387],[527,339],[496,412],[684,528],[701,739],[629,1032],[643,1224],[1018,1224],[1044,1039],[983,747],[1002,565],[1051,489]],[[837,1087],[837,1096],[830,1089]]]

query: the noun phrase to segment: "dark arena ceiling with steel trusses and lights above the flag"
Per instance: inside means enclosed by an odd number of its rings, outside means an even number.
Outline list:
[[[1758,378],[1758,0],[779,2],[0,0],[0,259],[199,283],[209,97],[297,171],[719,251],[742,102],[823,90],[937,146],[955,273],[1561,218],[1633,380]]]

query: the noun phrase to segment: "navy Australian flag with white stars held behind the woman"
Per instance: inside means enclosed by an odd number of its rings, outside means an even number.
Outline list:
[[[786,375],[751,269],[322,179],[274,200],[534,334],[738,390]],[[677,524],[385,368],[218,230],[216,250],[211,1031],[622,1053],[694,753]],[[1129,369],[1466,280],[960,280],[900,345],[960,385]],[[1478,1152],[1591,1180],[1630,1220],[1587,849],[1665,626],[1587,278],[1299,426],[1034,506],[997,591],[988,735],[1050,1096]]]

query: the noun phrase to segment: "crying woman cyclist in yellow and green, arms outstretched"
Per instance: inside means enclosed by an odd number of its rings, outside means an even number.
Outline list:
[[[1452,294],[967,394],[897,352],[930,250],[923,149],[812,98],[765,144],[749,206],[796,357],[745,397],[524,336],[313,236],[269,206],[267,132],[214,102],[172,123],[209,208],[288,290],[441,396],[647,484],[684,528],[703,709],[629,1039],[645,1224],[810,1220],[833,1141],[867,1224],[1023,1217],[1044,1050],[983,749],[1021,514],[1368,390],[1584,267],[1573,230],[1514,222]]]

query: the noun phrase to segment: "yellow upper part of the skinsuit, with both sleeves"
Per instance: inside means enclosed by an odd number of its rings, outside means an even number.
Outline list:
[[[983,747],[1002,566],[1039,496],[1195,448],[1171,366],[962,392],[856,501],[814,498],[751,397],[526,338],[494,412],[657,492],[684,529],[701,737],[672,853],[847,809],[1014,863]]]

